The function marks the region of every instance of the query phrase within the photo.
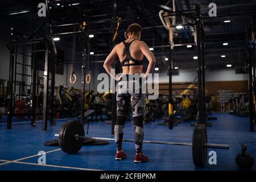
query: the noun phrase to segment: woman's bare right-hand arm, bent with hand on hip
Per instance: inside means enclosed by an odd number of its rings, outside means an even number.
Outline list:
[[[146,56],[147,60],[149,61],[148,67],[147,67],[147,71],[145,73],[145,77],[148,76],[149,73],[152,73],[152,71],[155,68],[155,56],[153,55],[153,53],[150,51],[150,49],[148,48],[147,44],[144,43],[143,41],[141,42],[141,52],[143,53],[144,56]]]

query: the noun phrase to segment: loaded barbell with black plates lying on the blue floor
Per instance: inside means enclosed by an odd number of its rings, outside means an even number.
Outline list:
[[[59,137],[61,150],[68,154],[76,154],[82,148],[84,139],[108,140],[113,138],[85,137],[84,126],[79,121],[69,120],[61,126],[60,133],[55,134]],[[134,142],[132,139],[123,139],[123,142]],[[193,129],[192,143],[183,142],[162,142],[144,140],[143,143],[171,144],[177,146],[192,146],[193,163],[196,167],[204,167],[207,160],[207,148],[218,148],[228,150],[228,144],[207,143],[207,130],[205,125],[196,124]]]

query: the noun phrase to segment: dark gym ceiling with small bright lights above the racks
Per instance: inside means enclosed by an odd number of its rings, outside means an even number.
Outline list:
[[[44,18],[37,16],[38,3],[44,1],[5,1],[1,2],[0,12],[7,18],[15,18],[31,23],[28,31],[36,30],[44,23]],[[82,20],[86,21],[100,21],[102,19],[111,19],[113,16],[113,1],[96,0],[96,1],[55,1],[60,3],[60,6],[53,7],[52,24],[63,23],[80,23]],[[79,5],[73,5],[80,2]],[[209,3],[214,2],[217,5],[217,16],[225,15],[220,18],[204,19],[204,31],[207,38],[205,46],[205,61],[206,67],[210,69],[225,68],[226,64],[232,64],[233,67],[246,64],[246,26],[250,23],[253,15],[248,14],[255,12],[255,0],[176,0],[176,10],[195,9],[195,5],[199,4],[201,7],[202,16],[208,16]],[[69,6],[69,4],[71,6]],[[61,7],[63,5],[63,7]],[[142,40],[148,44],[149,47],[157,47],[168,45],[167,30],[162,26],[159,17],[155,16],[160,10],[167,11],[172,8],[172,1],[142,1],[118,0],[118,16],[122,19],[127,19],[134,16],[130,21],[122,22],[119,28],[117,42],[124,39],[124,32],[131,22],[137,22],[144,28],[142,32]],[[8,15],[10,13],[29,10],[30,12],[17,15]],[[129,12],[130,11],[130,12]],[[239,15],[236,15],[239,14]],[[236,15],[236,16],[235,16]],[[148,16],[148,18],[138,19],[137,17]],[[224,20],[231,20],[229,23],[224,23]],[[177,23],[181,23],[181,17],[177,17]],[[153,27],[146,29],[146,27]],[[32,28],[33,27],[33,28]],[[94,38],[90,40],[91,50],[94,55],[90,57],[92,61],[104,61],[109,52],[110,42],[110,22],[92,23],[90,24],[91,34]],[[17,27],[18,28],[18,27]],[[192,43],[193,42],[193,27],[187,27],[188,39],[184,38],[184,32],[177,30],[175,34],[175,43]],[[73,31],[73,27],[56,28],[54,32],[68,32]],[[38,31],[38,36],[44,36],[44,27]],[[72,46],[72,36],[65,36],[63,42],[58,42],[56,45],[63,48],[64,45],[69,49]],[[65,44],[64,44],[65,41]],[[222,43],[228,42],[228,46],[223,46]],[[66,50],[65,50],[66,51]],[[72,52],[72,51],[71,51]],[[79,52],[79,50],[78,50]],[[70,53],[70,52],[69,52]],[[166,67],[169,48],[154,48],[154,54],[158,60],[159,67]],[[99,56],[103,54],[102,56]],[[187,48],[186,46],[175,47],[174,49],[174,66],[181,69],[189,69],[196,67],[196,60],[193,56],[196,55],[196,48]],[[225,55],[225,58],[221,58]],[[67,57],[67,62],[71,60],[71,56]],[[80,59],[77,56],[77,59]]]

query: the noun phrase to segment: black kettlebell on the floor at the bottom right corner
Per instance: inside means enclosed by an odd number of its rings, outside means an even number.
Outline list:
[[[242,152],[236,156],[237,166],[242,169],[250,169],[254,165],[253,156],[247,152],[246,144],[242,144]]]

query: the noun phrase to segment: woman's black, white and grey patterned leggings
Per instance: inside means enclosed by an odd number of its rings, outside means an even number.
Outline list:
[[[119,84],[121,85],[118,85],[117,90],[117,121],[114,127],[115,146],[118,151],[122,150],[123,127],[125,126],[127,114],[129,114],[129,105],[131,104],[133,110],[135,148],[136,152],[141,152],[144,135],[143,114],[146,95],[139,92],[125,92],[125,90],[129,89],[130,85],[134,86],[134,81],[121,81]]]

